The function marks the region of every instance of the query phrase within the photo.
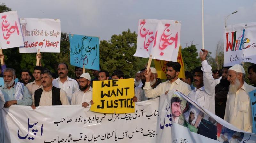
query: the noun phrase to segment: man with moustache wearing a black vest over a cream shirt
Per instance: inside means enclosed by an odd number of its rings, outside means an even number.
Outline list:
[[[41,82],[43,87],[39,88],[32,95],[33,109],[37,106],[69,105],[67,94],[64,90],[52,85],[52,72],[44,70],[41,72]]]

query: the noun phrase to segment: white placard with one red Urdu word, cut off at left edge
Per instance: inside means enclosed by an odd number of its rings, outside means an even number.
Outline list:
[[[2,49],[23,46],[17,11],[0,13],[0,44]]]

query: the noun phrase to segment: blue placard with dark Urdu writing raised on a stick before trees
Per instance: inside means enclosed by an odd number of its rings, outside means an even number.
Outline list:
[[[70,64],[80,68],[99,70],[99,38],[69,34]]]

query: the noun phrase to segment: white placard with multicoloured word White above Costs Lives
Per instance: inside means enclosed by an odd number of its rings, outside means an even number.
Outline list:
[[[224,66],[256,63],[256,22],[224,28]]]

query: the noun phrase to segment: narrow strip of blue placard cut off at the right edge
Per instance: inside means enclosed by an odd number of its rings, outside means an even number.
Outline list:
[[[256,89],[249,92],[252,107],[252,132],[256,133]]]

